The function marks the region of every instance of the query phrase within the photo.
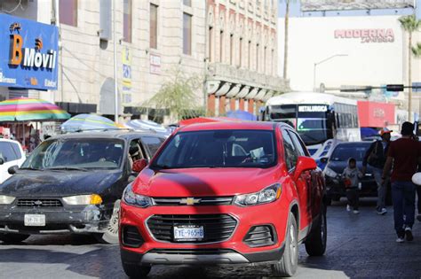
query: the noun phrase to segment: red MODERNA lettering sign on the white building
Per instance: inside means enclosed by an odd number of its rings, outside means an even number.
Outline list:
[[[361,43],[393,43],[392,28],[385,29],[337,29],[335,39],[360,39]]]

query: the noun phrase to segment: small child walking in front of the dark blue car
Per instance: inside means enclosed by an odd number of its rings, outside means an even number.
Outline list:
[[[360,170],[357,167],[357,161],[353,158],[348,159],[348,166],[342,173],[342,179],[346,187],[346,198],[348,204],[346,205],[346,211],[350,212],[351,208],[353,213],[358,214],[358,205],[360,203],[360,194],[358,192],[359,178],[362,177]]]

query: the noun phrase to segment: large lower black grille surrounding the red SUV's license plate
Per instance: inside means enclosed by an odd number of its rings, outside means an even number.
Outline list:
[[[175,241],[174,226],[203,226],[204,236],[197,241]],[[228,214],[154,215],[147,220],[147,227],[157,240],[172,243],[221,242],[233,235],[237,221]]]

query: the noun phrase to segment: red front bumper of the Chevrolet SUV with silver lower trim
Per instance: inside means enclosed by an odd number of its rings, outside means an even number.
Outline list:
[[[240,207],[215,206],[151,206],[139,208],[122,202],[120,210],[120,244],[122,260],[127,264],[250,264],[277,261],[282,258],[285,231],[290,208],[278,200],[272,204]],[[147,220],[155,215],[227,214],[237,223],[229,238],[213,243],[177,243],[156,239],[148,228]],[[124,244],[122,228],[136,227],[142,238],[139,247]],[[256,226],[273,228],[273,244],[253,246],[244,239]],[[205,229],[206,234],[206,229]]]

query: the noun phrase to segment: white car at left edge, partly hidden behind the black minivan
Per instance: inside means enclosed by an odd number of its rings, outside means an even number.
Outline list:
[[[25,152],[19,142],[0,139],[0,183],[12,175],[7,172],[9,167],[20,167],[25,159]]]

